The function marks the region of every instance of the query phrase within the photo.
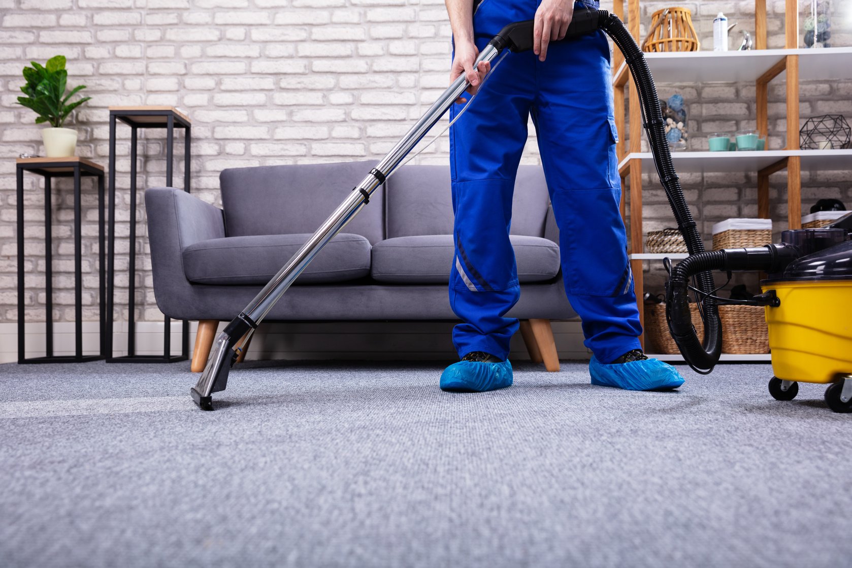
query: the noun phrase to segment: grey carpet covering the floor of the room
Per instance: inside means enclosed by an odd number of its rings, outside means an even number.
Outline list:
[[[852,416],[769,365],[676,393],[515,366],[0,365],[3,566],[838,566]]]

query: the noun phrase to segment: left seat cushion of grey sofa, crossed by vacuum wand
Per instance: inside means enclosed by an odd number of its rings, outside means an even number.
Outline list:
[[[183,250],[183,270],[195,284],[267,284],[310,233],[211,238]],[[327,284],[370,274],[370,241],[342,232],[325,245],[294,284]]]

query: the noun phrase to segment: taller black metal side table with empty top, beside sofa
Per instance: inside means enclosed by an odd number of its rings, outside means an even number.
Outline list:
[[[112,309],[115,301],[115,126],[116,120],[130,126],[130,290],[128,297],[127,355],[112,357]],[[109,107],[109,261],[107,265],[107,363],[175,363],[189,359],[189,322],[183,320],[181,355],[171,354],[171,319],[165,318],[162,355],[137,355],[135,333],[136,277],[136,130],[166,129],[165,184],[172,186],[175,129],[184,131],[183,191],[189,192],[191,123],[186,115],[173,106],[110,106]]]

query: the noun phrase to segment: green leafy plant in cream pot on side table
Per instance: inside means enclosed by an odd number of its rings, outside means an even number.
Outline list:
[[[18,103],[32,109],[38,115],[36,123],[50,123],[50,127],[42,130],[44,152],[48,158],[65,158],[73,156],[77,146],[77,130],[62,128],[71,112],[91,97],[67,104],[72,96],[85,85],[66,92],[68,72],[65,69],[65,56],[56,55],[41,66],[31,61],[32,67],[24,67],[26,85],[20,88],[26,96],[18,97]]]

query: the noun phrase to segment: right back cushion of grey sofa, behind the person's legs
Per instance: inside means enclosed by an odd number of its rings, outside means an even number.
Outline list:
[[[388,238],[452,234],[449,166],[404,166],[387,182]],[[511,234],[544,236],[550,197],[541,166],[521,166],[515,179]]]

